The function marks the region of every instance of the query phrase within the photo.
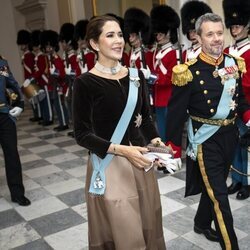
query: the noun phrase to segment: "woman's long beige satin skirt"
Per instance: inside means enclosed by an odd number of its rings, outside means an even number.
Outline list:
[[[107,167],[103,196],[88,193],[92,174],[88,161],[86,202],[90,250],[165,250],[162,210],[154,169],[140,170],[114,156]]]

